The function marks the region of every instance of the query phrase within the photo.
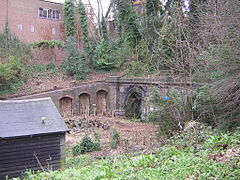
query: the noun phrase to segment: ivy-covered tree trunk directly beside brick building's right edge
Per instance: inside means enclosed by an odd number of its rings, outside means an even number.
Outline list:
[[[75,34],[75,17],[73,0],[65,0],[64,4],[64,25],[67,37],[74,37]]]

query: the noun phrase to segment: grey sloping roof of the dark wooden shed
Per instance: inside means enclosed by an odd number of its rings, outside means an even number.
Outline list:
[[[51,98],[0,101],[0,138],[66,131]]]

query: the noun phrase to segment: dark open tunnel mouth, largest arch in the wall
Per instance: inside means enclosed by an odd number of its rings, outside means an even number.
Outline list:
[[[141,92],[133,91],[126,98],[125,114],[128,118],[141,119],[143,96]]]

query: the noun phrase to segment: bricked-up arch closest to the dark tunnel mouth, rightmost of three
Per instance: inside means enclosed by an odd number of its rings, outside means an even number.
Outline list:
[[[97,114],[104,114],[107,111],[108,93],[104,90],[97,92]]]

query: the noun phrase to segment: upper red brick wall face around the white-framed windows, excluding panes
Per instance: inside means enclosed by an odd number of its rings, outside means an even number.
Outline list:
[[[60,10],[60,20],[43,19],[39,8]],[[9,0],[8,20],[11,31],[24,42],[64,40],[63,5],[41,0]],[[18,29],[22,26],[22,30]],[[31,26],[34,32],[31,32]],[[56,34],[52,33],[55,28]]]

